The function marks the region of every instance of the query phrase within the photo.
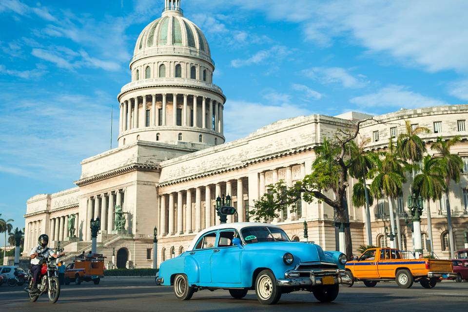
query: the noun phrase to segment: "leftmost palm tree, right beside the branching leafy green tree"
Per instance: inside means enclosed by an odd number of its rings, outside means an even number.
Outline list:
[[[359,145],[354,141],[350,142],[350,176],[358,179],[359,182],[354,184],[352,193],[352,202],[356,207],[366,205],[366,228],[368,244],[372,245],[372,229],[370,227],[370,205],[373,198],[369,198],[369,191],[366,184],[366,177],[369,174],[370,168],[374,166],[375,159],[378,155],[374,152],[365,151],[364,146],[369,143],[370,139],[363,140]],[[364,187],[366,186],[366,187]],[[362,194],[364,193],[364,194]],[[364,195],[364,197],[362,197]],[[357,196],[356,198],[354,196]],[[360,198],[359,198],[360,196]],[[363,200],[364,199],[364,200]]]

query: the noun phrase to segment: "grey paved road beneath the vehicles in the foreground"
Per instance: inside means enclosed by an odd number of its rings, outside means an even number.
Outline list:
[[[63,286],[59,301],[48,303],[43,295],[30,303],[20,287],[0,286],[0,311],[467,311],[468,283],[442,282],[434,289],[414,284],[411,289],[399,289],[394,283],[380,283],[367,288],[356,283],[342,287],[338,298],[329,304],[319,303],[312,293],[284,294],[275,306],[262,306],[254,291],[241,300],[229,292],[207,290],[196,292],[191,300],[179,301],[171,287],[156,286],[154,278],[107,278],[99,285],[83,283]],[[34,310],[33,310],[34,309]]]

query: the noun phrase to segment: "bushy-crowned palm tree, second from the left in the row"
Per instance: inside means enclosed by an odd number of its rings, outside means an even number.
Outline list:
[[[376,197],[386,196],[390,206],[390,246],[395,247],[393,236],[395,219],[393,217],[393,198],[401,194],[403,183],[406,181],[403,169],[403,161],[393,146],[390,139],[389,150],[383,153],[383,159],[377,159],[375,167],[370,170],[369,175],[374,177],[370,184],[370,190]]]

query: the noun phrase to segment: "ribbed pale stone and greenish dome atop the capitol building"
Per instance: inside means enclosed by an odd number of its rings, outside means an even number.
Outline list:
[[[213,63],[210,46],[198,26],[183,17],[179,7],[166,7],[162,16],[140,33],[133,61],[154,55],[187,55]]]

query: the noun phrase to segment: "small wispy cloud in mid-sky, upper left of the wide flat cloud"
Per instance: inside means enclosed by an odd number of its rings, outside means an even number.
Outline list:
[[[344,88],[362,88],[369,83],[364,75],[353,76],[341,67],[312,67],[301,72],[306,77],[322,83],[339,83]]]

